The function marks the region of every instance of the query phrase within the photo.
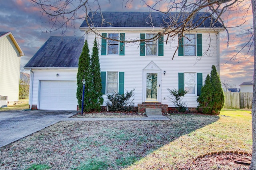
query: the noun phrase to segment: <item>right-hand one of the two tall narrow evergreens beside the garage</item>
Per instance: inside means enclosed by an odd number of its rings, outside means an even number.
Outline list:
[[[91,93],[92,110],[99,112],[101,110],[100,105],[103,104],[103,97],[101,92],[102,84],[100,77],[99,50],[96,38],[92,48],[91,73],[93,77],[93,91]]]

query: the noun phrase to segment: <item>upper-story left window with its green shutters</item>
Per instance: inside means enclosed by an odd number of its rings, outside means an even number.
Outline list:
[[[102,33],[101,55],[124,55],[124,41],[124,33]]]

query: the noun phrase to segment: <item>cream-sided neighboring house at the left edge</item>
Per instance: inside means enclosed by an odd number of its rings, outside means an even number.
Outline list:
[[[20,57],[24,56],[12,32],[0,32],[0,96],[8,103],[19,99]]]

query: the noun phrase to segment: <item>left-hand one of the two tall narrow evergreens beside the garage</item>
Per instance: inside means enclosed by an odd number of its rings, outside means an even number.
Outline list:
[[[82,107],[82,95],[83,95],[83,79],[85,79],[85,89],[84,89],[84,112],[90,112],[92,108],[91,96],[92,92],[92,74],[90,71],[90,54],[88,42],[85,40],[82,53],[79,57],[78,62],[78,72],[77,72],[77,91],[76,98],[78,99],[78,105],[81,109]]]

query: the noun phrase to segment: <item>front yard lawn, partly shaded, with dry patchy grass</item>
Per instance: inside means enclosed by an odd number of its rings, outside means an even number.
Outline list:
[[[250,111],[170,121],[63,121],[0,148],[2,169],[187,169],[196,156],[252,152]],[[225,168],[221,168],[225,169]]]

